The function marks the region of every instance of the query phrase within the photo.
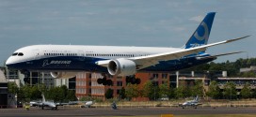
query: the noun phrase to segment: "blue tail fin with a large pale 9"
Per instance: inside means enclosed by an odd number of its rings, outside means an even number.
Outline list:
[[[210,36],[212,24],[215,19],[216,12],[208,13],[202,22],[200,22],[199,27],[193,33],[193,35],[189,38],[189,40],[185,44],[185,49],[198,47],[201,45],[205,45],[208,42],[208,38]]]

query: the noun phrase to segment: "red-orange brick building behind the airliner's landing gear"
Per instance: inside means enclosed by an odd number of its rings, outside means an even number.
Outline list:
[[[163,83],[169,84],[170,75],[169,73],[136,73],[136,78],[141,80],[139,86],[142,86],[147,80],[152,80],[153,85],[160,85]],[[118,97],[120,95],[120,89],[127,85],[125,77],[107,76],[107,80],[113,81],[112,86],[98,84],[97,80],[101,78],[103,78],[103,76],[100,73],[78,73],[76,76],[76,96],[81,98],[86,95],[91,95],[104,99],[104,93],[108,88],[111,88],[114,91],[114,96]]]

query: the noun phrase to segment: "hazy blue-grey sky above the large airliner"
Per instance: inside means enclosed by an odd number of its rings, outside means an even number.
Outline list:
[[[247,51],[215,62],[256,57],[255,0],[0,0],[0,66],[28,45],[184,45],[208,12],[216,12],[210,54]]]

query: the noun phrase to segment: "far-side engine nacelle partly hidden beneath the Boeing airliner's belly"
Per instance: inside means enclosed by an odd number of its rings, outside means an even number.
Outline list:
[[[56,79],[70,79],[76,76],[76,72],[51,72],[51,76]]]

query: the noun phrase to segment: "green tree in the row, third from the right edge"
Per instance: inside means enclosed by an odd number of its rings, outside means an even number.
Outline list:
[[[218,87],[216,80],[211,81],[207,95],[215,99],[218,99],[221,96],[220,88]]]

